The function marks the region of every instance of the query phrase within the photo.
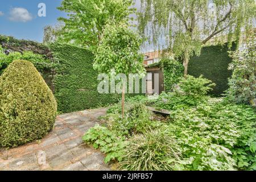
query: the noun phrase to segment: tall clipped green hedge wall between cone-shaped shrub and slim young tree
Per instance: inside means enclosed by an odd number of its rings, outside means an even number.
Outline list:
[[[53,59],[59,62],[54,78],[58,110],[63,113],[113,104],[117,94],[97,92],[98,73],[93,69],[93,55],[84,48],[52,44]]]

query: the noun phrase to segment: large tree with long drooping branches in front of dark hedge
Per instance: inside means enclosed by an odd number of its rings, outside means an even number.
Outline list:
[[[162,42],[182,57],[184,76],[191,56],[217,40],[239,43],[253,26],[254,0],[141,0],[139,30],[150,43]],[[216,39],[216,37],[221,39]]]

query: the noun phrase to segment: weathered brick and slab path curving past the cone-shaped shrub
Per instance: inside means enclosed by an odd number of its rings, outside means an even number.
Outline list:
[[[1,170],[110,170],[104,155],[82,142],[82,135],[106,113],[93,109],[59,115],[40,142],[0,149]]]

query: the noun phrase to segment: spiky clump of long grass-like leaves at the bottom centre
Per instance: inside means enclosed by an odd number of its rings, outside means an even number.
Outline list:
[[[161,131],[147,131],[129,140],[121,169],[132,171],[168,171],[175,169],[180,154],[175,139]]]

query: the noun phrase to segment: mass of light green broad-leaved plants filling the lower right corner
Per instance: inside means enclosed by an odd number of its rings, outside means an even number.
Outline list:
[[[255,121],[250,107],[210,99],[172,110],[167,130],[179,142],[186,162],[183,169],[255,170]]]

